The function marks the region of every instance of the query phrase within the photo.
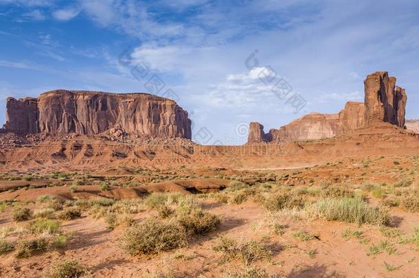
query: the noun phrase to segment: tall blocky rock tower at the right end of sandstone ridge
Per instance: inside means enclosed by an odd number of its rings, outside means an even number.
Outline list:
[[[405,89],[396,87],[396,78],[387,71],[377,71],[367,76],[365,86],[365,123],[387,121],[396,126],[405,126]]]

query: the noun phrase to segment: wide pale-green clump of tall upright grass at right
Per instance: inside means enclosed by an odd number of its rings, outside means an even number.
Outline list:
[[[360,198],[324,198],[306,208],[316,218],[356,224],[386,225],[390,217],[386,209],[370,207]]]

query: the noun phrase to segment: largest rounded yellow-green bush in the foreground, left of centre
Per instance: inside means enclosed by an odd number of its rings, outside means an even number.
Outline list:
[[[187,246],[185,229],[177,221],[148,218],[129,227],[120,239],[129,254],[149,255]]]

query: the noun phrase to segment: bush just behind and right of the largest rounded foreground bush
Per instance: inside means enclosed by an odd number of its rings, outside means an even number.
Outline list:
[[[190,235],[205,235],[218,229],[221,224],[218,216],[203,209],[194,209],[190,213],[182,214],[178,219],[181,226]]]

